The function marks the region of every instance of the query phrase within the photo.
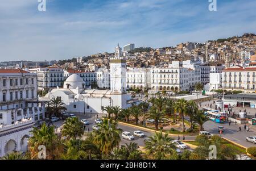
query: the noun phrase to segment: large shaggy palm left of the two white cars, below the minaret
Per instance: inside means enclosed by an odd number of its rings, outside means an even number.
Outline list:
[[[118,147],[121,137],[121,129],[117,128],[117,121],[104,119],[102,123],[97,124],[100,129],[93,132],[93,143],[100,147],[102,153],[109,154],[112,149]]]

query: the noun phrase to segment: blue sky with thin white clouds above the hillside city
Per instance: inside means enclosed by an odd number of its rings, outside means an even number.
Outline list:
[[[0,0],[0,61],[63,60],[119,43],[170,47],[256,34],[255,0]]]

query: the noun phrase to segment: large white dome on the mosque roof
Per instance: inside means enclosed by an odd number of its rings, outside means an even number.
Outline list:
[[[77,74],[72,74],[67,78],[67,80],[64,82],[64,89],[76,89],[79,87],[80,89],[84,89],[84,80]]]

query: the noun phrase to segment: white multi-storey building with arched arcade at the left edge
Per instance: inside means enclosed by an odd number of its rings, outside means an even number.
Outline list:
[[[44,103],[36,97],[36,74],[0,69],[0,157],[26,151],[34,122],[44,118]]]

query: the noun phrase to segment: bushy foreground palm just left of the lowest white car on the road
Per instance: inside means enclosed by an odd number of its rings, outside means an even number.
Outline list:
[[[167,159],[168,156],[175,152],[175,147],[171,140],[168,134],[163,135],[162,132],[155,132],[155,135],[150,136],[145,143],[146,154],[155,160]]]

